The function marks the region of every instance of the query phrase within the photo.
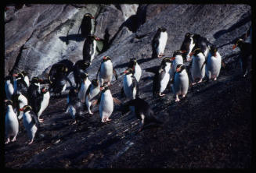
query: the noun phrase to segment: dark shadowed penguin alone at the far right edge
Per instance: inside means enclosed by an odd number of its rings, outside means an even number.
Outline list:
[[[236,47],[240,48],[240,65],[243,72],[243,77],[246,77],[250,65],[251,43],[247,43],[240,38],[236,41],[236,44],[233,45],[233,49]]]

